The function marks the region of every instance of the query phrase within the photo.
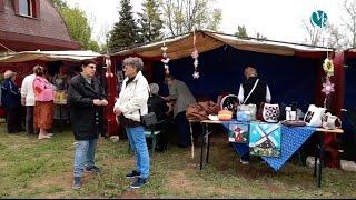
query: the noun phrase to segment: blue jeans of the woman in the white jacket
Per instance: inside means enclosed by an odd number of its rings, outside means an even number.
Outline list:
[[[149,154],[146,143],[144,127],[126,128],[127,137],[136,156],[136,171],[141,172],[141,178],[149,177]]]

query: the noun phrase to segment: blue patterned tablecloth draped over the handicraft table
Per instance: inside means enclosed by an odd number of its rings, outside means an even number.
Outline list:
[[[230,123],[244,123],[238,121],[224,121],[227,129]],[[301,144],[315,132],[314,127],[286,127],[281,126],[281,153],[279,158],[274,157],[261,157],[266,162],[275,170],[286,163],[286,161],[301,147]],[[235,143],[233,142],[235,151],[241,156],[249,153],[247,143]]]

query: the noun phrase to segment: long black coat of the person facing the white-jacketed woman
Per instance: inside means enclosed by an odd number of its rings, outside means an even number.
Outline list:
[[[81,74],[70,80],[67,102],[70,107],[71,126],[76,140],[98,138],[99,122],[103,121],[103,116],[99,114],[100,108],[95,106],[92,100],[105,98],[103,88],[97,78],[91,79],[91,84]]]

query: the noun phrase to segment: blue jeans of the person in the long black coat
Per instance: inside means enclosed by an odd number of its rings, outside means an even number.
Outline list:
[[[77,141],[76,158],[75,158],[75,177],[82,177],[85,164],[87,167],[95,166],[95,156],[98,139]]]

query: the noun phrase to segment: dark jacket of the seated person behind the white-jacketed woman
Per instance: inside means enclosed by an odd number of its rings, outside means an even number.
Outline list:
[[[148,98],[148,109],[155,112],[158,121],[166,119],[169,110],[165,99],[154,93]]]

